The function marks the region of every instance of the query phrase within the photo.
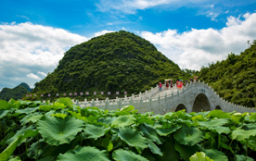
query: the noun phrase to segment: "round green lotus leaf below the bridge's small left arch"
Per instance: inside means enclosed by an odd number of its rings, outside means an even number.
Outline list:
[[[204,134],[195,127],[182,127],[173,133],[173,137],[181,144],[192,146],[195,143],[201,142],[204,139]]]

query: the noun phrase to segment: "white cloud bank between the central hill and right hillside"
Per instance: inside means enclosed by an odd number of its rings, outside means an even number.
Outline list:
[[[243,18],[229,17],[222,30],[142,31],[140,34],[181,68],[199,69],[212,61],[223,60],[227,53],[239,54],[248,47],[248,40],[255,39],[256,13],[247,13]]]

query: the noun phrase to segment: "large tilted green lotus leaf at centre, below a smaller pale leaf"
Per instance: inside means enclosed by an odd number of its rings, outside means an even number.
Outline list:
[[[140,149],[147,148],[147,139],[141,136],[138,130],[131,127],[119,128],[118,136],[129,146],[138,147]]]

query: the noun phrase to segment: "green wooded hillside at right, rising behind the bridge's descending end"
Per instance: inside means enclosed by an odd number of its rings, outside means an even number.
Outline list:
[[[231,53],[222,62],[201,68],[199,79],[238,105],[256,106],[256,41],[239,56]]]

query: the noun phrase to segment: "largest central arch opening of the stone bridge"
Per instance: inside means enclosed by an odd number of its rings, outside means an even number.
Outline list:
[[[204,93],[199,93],[194,101],[192,112],[211,111],[209,99]]]

